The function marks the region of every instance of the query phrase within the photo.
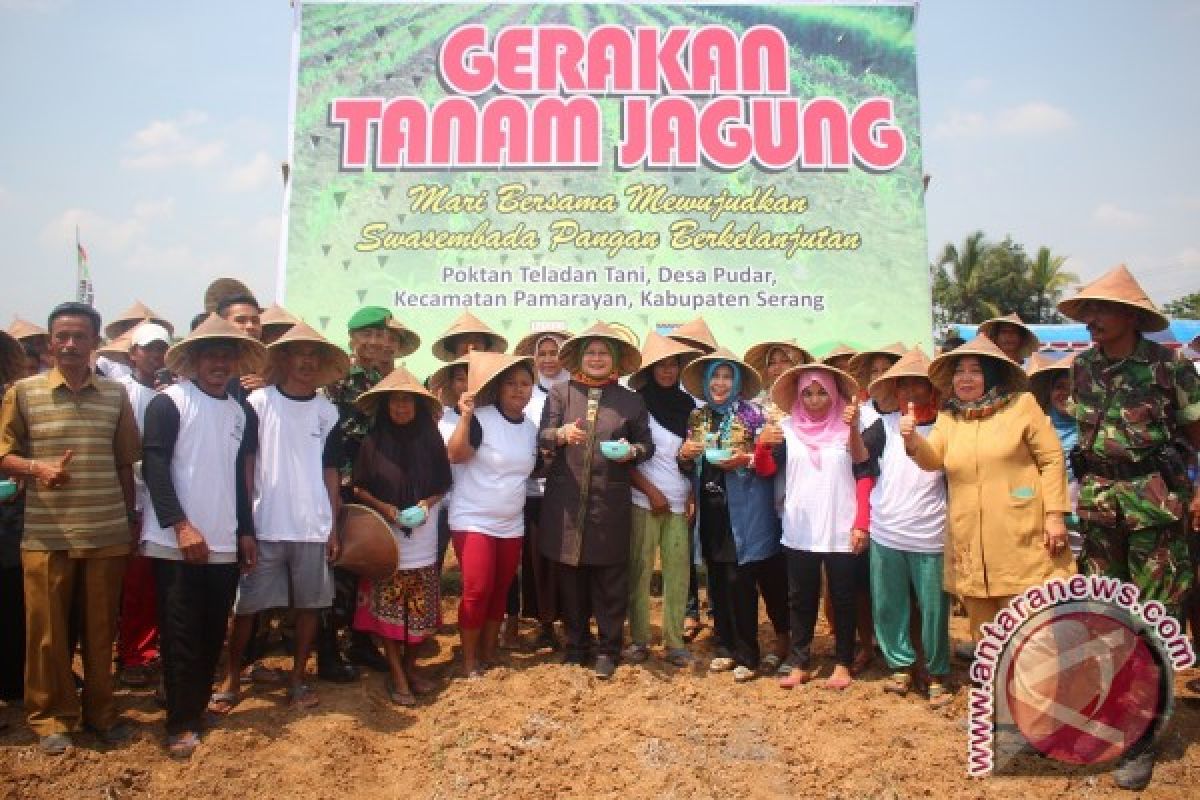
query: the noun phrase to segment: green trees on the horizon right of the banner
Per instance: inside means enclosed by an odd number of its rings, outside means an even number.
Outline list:
[[[1012,236],[994,242],[982,230],[961,245],[948,243],[930,264],[934,325],[977,324],[1012,312],[1033,324],[1070,321],[1056,309],[1063,293],[1079,284],[1079,276],[1063,269],[1066,261],[1049,247],[1030,257]],[[1200,291],[1164,305],[1163,313],[1200,319]]]

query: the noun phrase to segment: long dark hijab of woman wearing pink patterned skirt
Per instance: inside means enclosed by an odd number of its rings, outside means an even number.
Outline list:
[[[392,422],[388,403],[379,403],[354,461],[354,485],[397,509],[444,494],[452,482],[442,434],[425,404],[414,399],[416,415],[408,425]]]

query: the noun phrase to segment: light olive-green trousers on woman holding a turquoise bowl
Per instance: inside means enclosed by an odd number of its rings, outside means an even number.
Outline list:
[[[688,519],[682,513],[652,515],[634,506],[629,539],[629,633],[634,644],[650,643],[650,578],[654,557],[662,561],[662,646],[682,649],[688,604]]]

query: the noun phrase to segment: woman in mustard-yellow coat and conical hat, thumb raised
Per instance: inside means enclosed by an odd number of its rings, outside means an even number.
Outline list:
[[[1014,595],[1075,572],[1062,446],[1024,371],[986,337],[934,359],[929,378],[947,398],[929,438],[911,409],[900,434],[922,469],[946,471],[946,590],[978,639]]]

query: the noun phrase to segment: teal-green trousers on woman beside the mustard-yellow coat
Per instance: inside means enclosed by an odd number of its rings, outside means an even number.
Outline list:
[[[942,558],[941,553],[907,553],[871,542],[875,638],[890,669],[907,669],[917,662],[908,632],[912,590],[917,595],[925,668],[935,676],[950,670],[950,602],[942,589]]]

